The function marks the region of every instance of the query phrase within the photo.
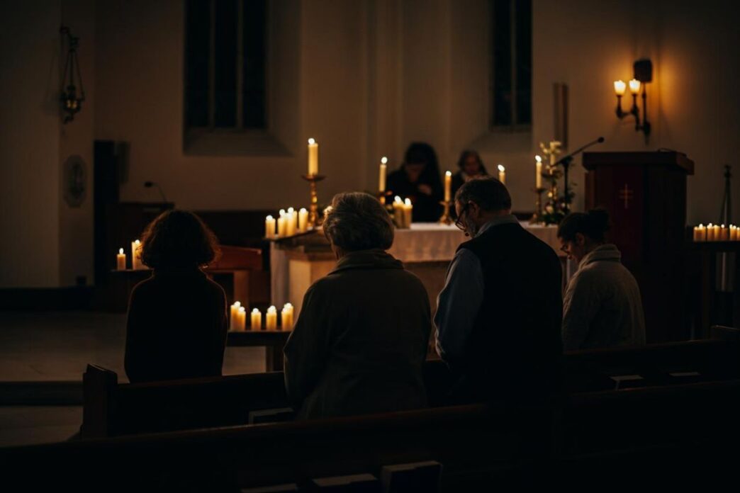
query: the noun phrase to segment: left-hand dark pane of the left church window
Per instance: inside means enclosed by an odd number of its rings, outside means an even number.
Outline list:
[[[185,40],[185,121],[208,125],[208,54],[210,1],[188,0]]]

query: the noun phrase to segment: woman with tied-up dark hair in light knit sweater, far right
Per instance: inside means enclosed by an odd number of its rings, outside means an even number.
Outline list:
[[[609,215],[574,212],[559,225],[562,250],[578,262],[563,299],[563,350],[645,344],[637,282],[616,245],[605,242]]]

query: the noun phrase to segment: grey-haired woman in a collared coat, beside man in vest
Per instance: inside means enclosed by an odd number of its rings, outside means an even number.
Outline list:
[[[394,234],[388,213],[369,194],[337,194],[323,231],[336,268],[306,291],[283,350],[298,418],[425,407],[429,299],[386,253]]]

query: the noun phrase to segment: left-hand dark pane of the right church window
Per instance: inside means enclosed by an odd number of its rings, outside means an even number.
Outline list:
[[[511,125],[511,0],[493,1],[493,124]]]

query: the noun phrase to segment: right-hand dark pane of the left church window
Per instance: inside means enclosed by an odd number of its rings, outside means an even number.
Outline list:
[[[266,25],[266,0],[245,0],[242,111],[247,129],[266,127]]]

